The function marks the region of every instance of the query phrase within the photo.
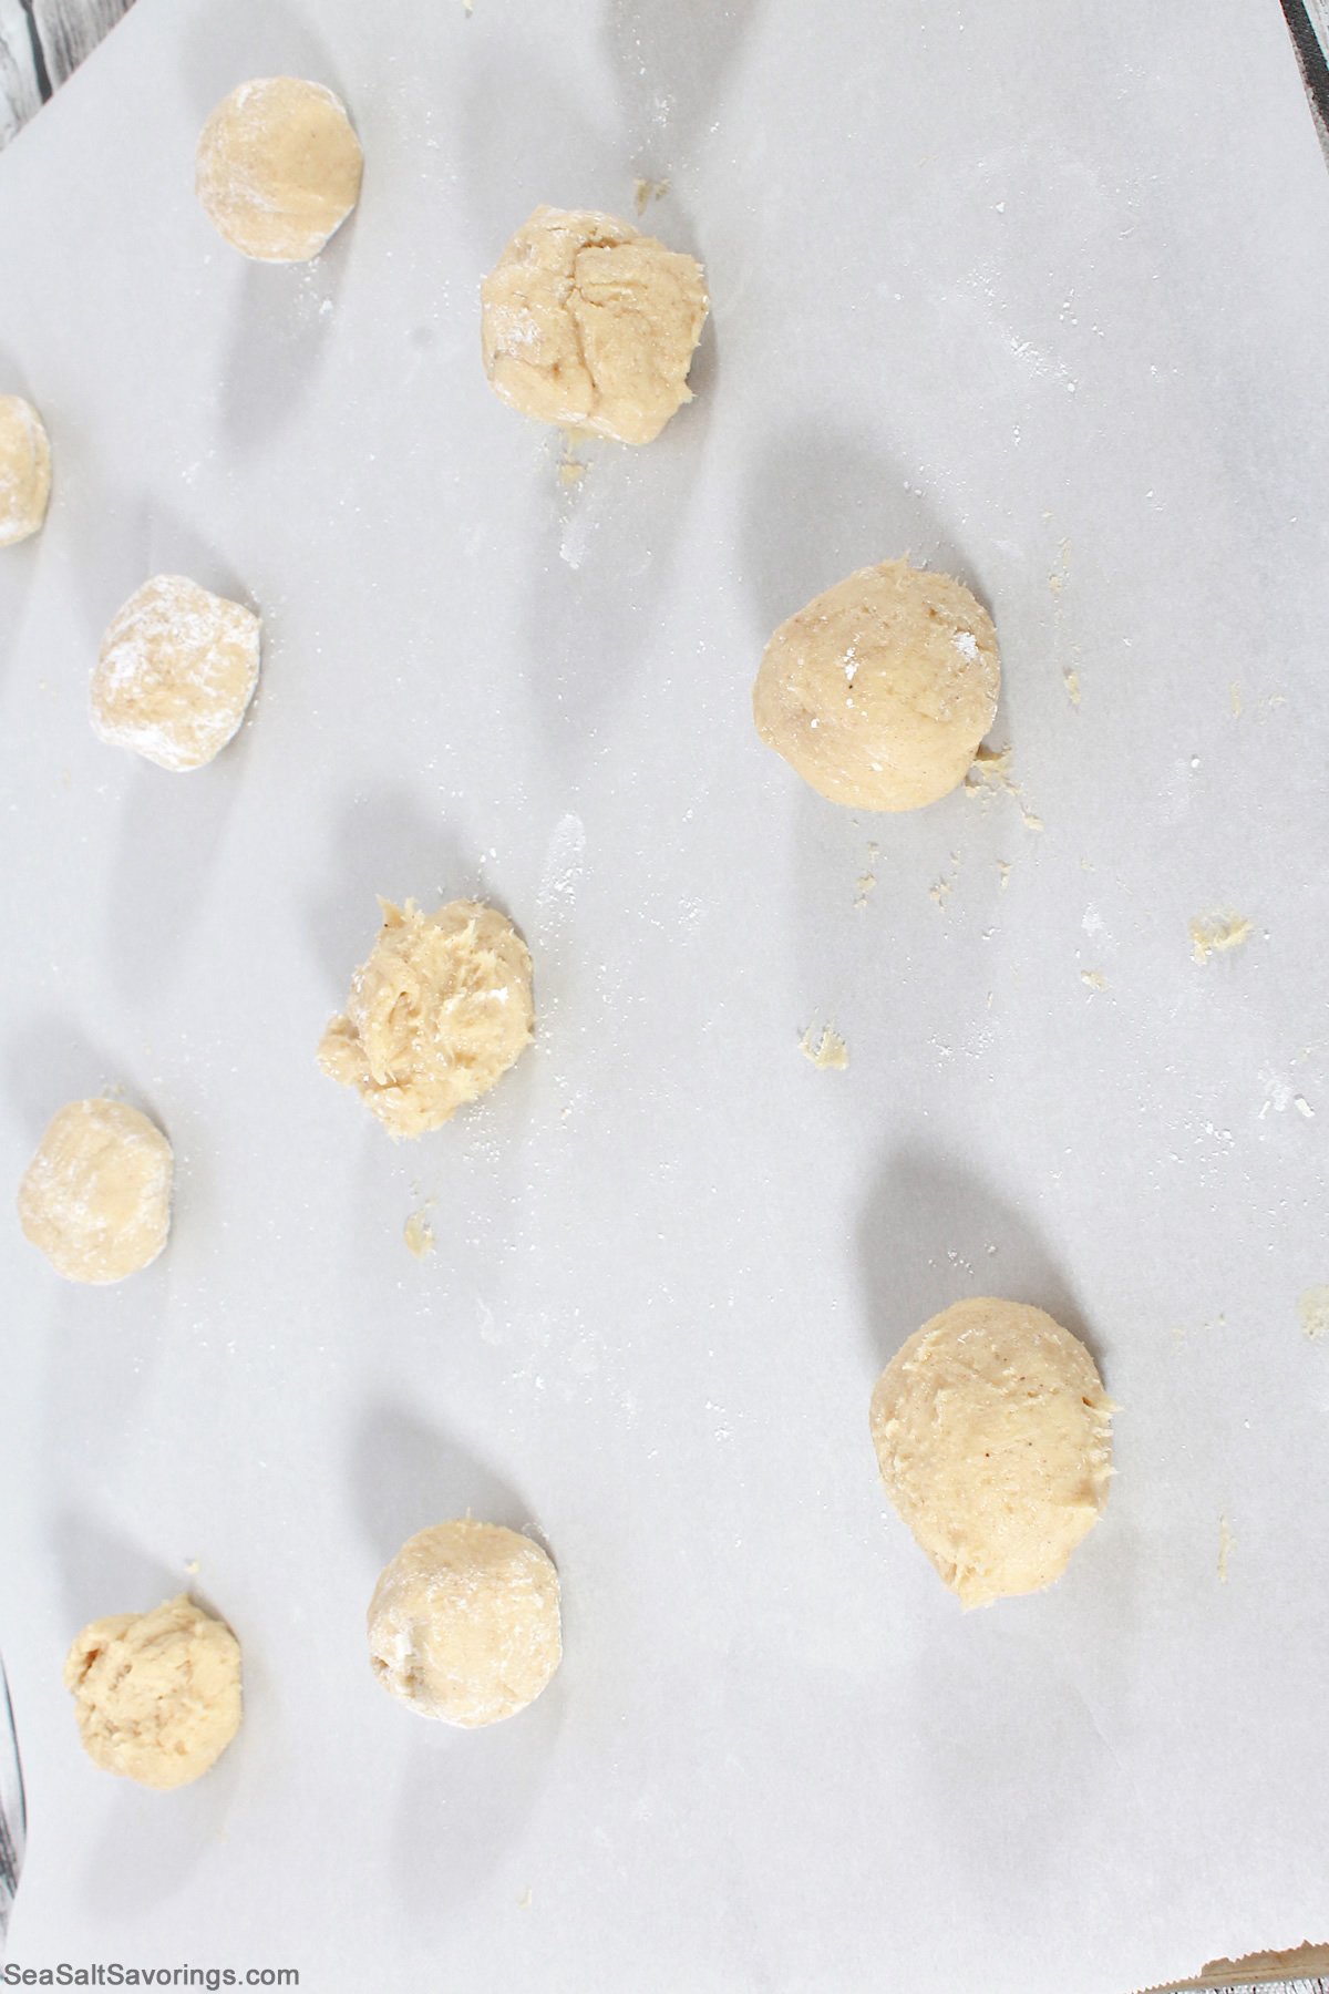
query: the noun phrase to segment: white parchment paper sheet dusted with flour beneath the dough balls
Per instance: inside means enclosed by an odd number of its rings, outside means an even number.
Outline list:
[[[367,152],[303,269],[191,193],[279,72]],[[642,177],[707,267],[697,401],[566,483],[476,285]],[[104,1085],[179,1166],[112,1290],[2,1220],[10,1960],[1126,1994],[1325,1936],[1327,247],[1237,0],[139,0],[8,148],[0,371],[56,493],[0,556],[0,1182]],[[996,616],[1018,800],[855,818],[751,730],[775,622],[905,548]],[[187,778],[84,716],[157,570],[265,616]],[[416,1147],[313,1061],[375,893],[492,897],[536,961],[536,1047]],[[1211,909],[1253,933],[1199,965]],[[845,1073],[799,1055],[829,1019]],[[970,1292],[1122,1410],[1066,1579],[962,1615],[867,1400]],[[365,1663],[381,1563],[466,1507],[564,1581],[492,1735]],[[185,1585],[247,1715],[159,1797],[82,1757],[60,1663]]]

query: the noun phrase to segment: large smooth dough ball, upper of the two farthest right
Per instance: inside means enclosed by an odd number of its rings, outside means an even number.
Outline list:
[[[1000,684],[996,630],[968,588],[883,560],[779,626],[753,718],[833,804],[919,810],[964,778]]]

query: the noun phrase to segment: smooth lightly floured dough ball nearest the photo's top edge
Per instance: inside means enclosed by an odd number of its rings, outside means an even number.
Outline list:
[[[363,169],[341,98],[299,76],[259,76],[203,126],[193,185],[233,249],[303,263],[359,201]]]

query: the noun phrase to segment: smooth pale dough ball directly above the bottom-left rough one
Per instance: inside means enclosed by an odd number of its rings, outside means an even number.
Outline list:
[[[70,1101],[18,1186],[18,1222],[66,1280],[124,1280],[171,1230],[171,1145],[124,1101]]]

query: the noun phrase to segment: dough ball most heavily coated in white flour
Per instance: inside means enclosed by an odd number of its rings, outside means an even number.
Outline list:
[[[102,638],[92,674],[96,732],[157,768],[211,762],[259,682],[259,630],[243,602],[213,596],[183,574],[143,582]]]

